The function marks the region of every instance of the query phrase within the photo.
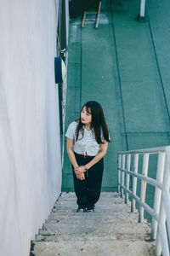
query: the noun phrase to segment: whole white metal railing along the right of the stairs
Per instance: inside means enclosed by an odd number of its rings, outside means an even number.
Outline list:
[[[151,154],[157,154],[156,179],[148,177]],[[141,174],[139,173],[139,157],[142,157]],[[133,160],[132,160],[133,159]],[[131,170],[132,169],[132,170]],[[129,188],[132,177],[132,190]],[[140,184],[138,183],[140,180]],[[146,185],[155,187],[153,208],[145,202]],[[137,185],[139,195],[137,195]],[[131,211],[136,211],[139,203],[139,222],[144,220],[144,210],[152,218],[151,239],[156,240],[156,255],[170,255],[170,146],[162,148],[146,148],[118,153],[118,193],[125,197],[125,203],[131,196]],[[124,196],[125,194],[125,196]]]

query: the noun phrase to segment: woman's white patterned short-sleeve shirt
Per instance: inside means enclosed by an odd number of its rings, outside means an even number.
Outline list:
[[[65,136],[69,137],[74,140],[74,146],[73,150],[77,154],[88,154],[90,156],[94,156],[99,153],[100,145],[96,142],[95,135],[94,135],[94,129],[87,130],[85,126],[83,125],[83,137],[82,137],[82,131],[79,131],[77,142],[75,140],[76,138],[76,132],[77,132],[77,121],[72,122],[66,133]],[[104,134],[103,130],[101,129],[101,141],[104,142]]]

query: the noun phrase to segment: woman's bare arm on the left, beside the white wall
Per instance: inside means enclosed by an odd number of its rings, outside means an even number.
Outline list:
[[[76,157],[75,157],[75,154],[73,151],[73,140],[69,137],[67,137],[67,141],[66,141],[66,151],[69,156],[69,159],[71,160],[71,164],[73,165],[74,169],[76,170],[79,166],[77,164],[77,160],[76,160]],[[77,178],[79,178],[79,179],[85,178],[84,173],[82,173],[82,172],[81,173],[77,172],[76,175],[77,175]]]

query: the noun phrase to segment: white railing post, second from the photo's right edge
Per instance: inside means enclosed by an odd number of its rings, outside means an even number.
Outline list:
[[[165,157],[166,157],[165,152],[161,152],[158,155],[156,181],[159,183],[162,183],[162,180],[163,180]],[[161,189],[156,187],[155,198],[154,198],[154,208],[153,208],[156,214],[159,214],[160,204],[161,204]],[[154,240],[156,239],[156,231],[157,231],[157,221],[155,218],[152,217],[151,239],[154,239]]]

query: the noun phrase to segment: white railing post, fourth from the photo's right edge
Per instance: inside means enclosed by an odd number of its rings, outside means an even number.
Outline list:
[[[133,158],[133,172],[138,173],[138,166],[139,166],[139,154],[134,154]],[[137,177],[133,176],[133,195],[136,195],[136,187],[137,187]],[[131,203],[131,212],[136,211],[136,201],[132,198]]]

